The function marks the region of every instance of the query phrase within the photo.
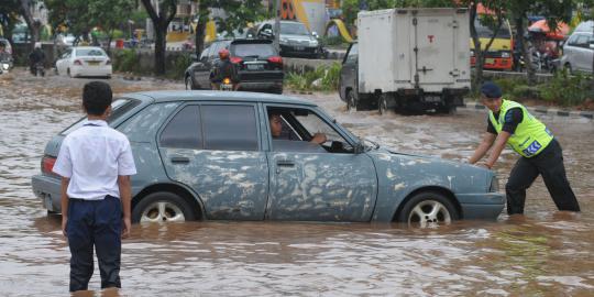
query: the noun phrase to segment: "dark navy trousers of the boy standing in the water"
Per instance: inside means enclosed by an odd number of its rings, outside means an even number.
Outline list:
[[[106,196],[102,200],[70,198],[66,226],[70,248],[70,292],[86,290],[94,272],[92,248],[97,251],[101,288],[121,287],[120,255],[122,204]]]

